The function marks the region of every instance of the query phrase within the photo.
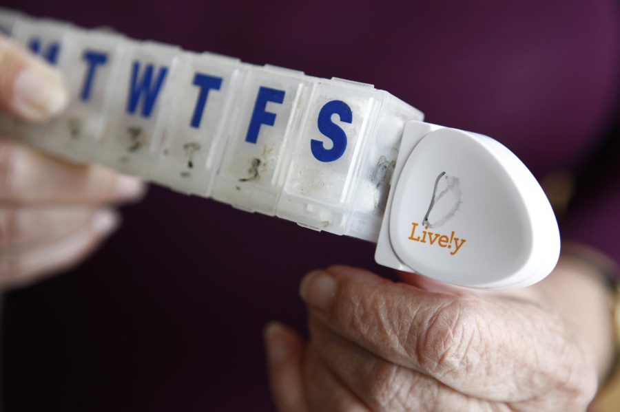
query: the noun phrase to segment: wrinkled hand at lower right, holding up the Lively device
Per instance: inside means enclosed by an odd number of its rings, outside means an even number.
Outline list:
[[[265,330],[280,412],[586,409],[595,362],[540,290],[403,276],[344,266],[307,275],[310,342],[276,323]]]

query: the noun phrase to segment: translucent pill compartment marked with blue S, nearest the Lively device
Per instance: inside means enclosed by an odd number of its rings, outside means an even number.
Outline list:
[[[362,149],[369,139],[368,129],[376,118],[376,107],[381,103],[377,101],[378,94],[372,86],[360,83],[332,80],[320,81],[316,85],[302,122],[300,139],[291,156],[291,166],[278,204],[279,217],[344,234],[355,181],[359,178],[358,169],[364,160]],[[318,124],[320,112],[328,102],[346,105],[342,106],[342,116],[338,113],[329,116],[329,120],[347,136],[346,147],[338,158],[335,157],[339,153],[333,153],[338,149],[338,140],[334,142],[321,133]],[[342,120],[348,111],[351,113],[350,122]],[[331,134],[332,138],[335,136],[337,134]],[[314,145],[314,152],[313,141],[319,142]],[[325,151],[327,160],[318,159],[317,150]]]

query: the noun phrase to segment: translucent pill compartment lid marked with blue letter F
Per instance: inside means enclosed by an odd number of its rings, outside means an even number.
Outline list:
[[[274,215],[282,177],[298,136],[312,78],[301,72],[252,67],[226,135],[213,196],[238,208]],[[261,117],[262,116],[262,117]],[[273,125],[265,122],[273,118]]]

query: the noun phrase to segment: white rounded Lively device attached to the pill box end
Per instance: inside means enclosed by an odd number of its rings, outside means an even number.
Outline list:
[[[406,124],[375,259],[470,288],[531,285],[555,267],[559,230],[541,187],[484,135]]]

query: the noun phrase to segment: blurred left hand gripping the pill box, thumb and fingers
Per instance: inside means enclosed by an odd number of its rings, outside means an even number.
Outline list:
[[[54,69],[0,36],[1,111],[41,123],[67,100]],[[143,192],[132,177],[61,162],[0,139],[0,290],[84,259],[118,225],[110,205]]]

